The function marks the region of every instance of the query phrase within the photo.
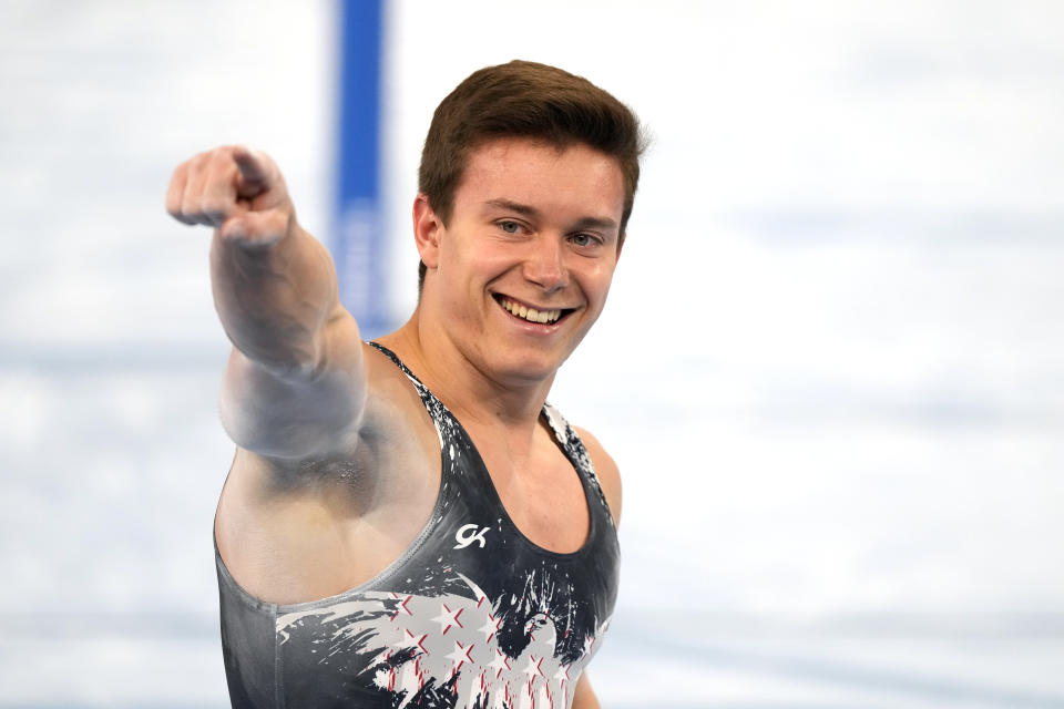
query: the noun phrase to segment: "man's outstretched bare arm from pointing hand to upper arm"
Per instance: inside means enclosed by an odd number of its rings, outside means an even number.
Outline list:
[[[215,227],[212,289],[234,346],[221,402],[229,436],[293,460],[352,445],[366,395],[358,327],[276,164],[239,146],[201,153],[174,171],[166,208]]]

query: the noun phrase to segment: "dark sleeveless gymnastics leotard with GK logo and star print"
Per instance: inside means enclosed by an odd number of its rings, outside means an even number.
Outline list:
[[[338,596],[290,605],[241,588],[215,546],[222,647],[233,707],[561,709],[602,643],[620,549],[587,453],[546,404],[583,484],[584,545],[536,546],[503,508],[468,433],[388,349],[440,438],[436,507],[410,547]]]

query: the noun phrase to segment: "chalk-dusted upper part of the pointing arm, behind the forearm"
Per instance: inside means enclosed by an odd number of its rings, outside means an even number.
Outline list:
[[[367,384],[362,345],[349,315],[324,333],[323,366],[313,373],[272,370],[233,350],[222,386],[222,423],[243,449],[301,459],[354,444]]]

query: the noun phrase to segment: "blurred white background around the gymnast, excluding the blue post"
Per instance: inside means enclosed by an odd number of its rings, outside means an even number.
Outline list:
[[[350,251],[340,10],[0,7],[0,707],[227,706],[227,342],[209,234],[163,196],[249,144]],[[382,327],[470,72],[557,64],[653,136],[552,394],[625,481],[605,707],[1064,707],[1064,6],[386,0],[379,27]]]

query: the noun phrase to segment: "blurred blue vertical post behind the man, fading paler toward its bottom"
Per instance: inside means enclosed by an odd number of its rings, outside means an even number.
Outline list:
[[[380,218],[380,51],[385,0],[340,0],[337,212],[340,300],[362,337],[388,327]]]

